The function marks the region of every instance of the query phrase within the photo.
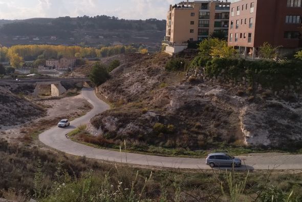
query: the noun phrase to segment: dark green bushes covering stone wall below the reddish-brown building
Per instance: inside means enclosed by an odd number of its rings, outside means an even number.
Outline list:
[[[274,89],[295,85],[302,77],[302,61],[289,60],[278,63],[273,60],[247,61],[244,59],[213,58],[206,64],[206,75],[222,75],[226,79],[246,77],[250,84],[258,82]]]

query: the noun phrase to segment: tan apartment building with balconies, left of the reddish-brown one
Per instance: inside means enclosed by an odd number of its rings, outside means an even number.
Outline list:
[[[188,47],[188,42],[202,41],[213,32],[228,36],[230,3],[227,1],[180,2],[170,5],[166,36],[162,42],[173,54]]]

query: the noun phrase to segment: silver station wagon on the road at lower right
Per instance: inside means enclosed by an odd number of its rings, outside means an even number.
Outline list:
[[[206,158],[206,164],[210,167],[241,166],[241,159],[229,156],[225,153],[211,153]]]

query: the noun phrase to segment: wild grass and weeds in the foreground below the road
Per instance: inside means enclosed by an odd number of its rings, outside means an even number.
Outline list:
[[[302,172],[137,169],[1,140],[0,166],[0,197],[17,201],[295,202],[302,196]]]

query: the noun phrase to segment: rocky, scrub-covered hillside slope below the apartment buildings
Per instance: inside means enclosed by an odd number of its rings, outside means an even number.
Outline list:
[[[251,96],[242,82],[205,78],[202,69],[168,72],[169,56],[162,53],[132,57],[135,62],[124,61],[97,89],[115,108],[91,120],[94,135],[115,145],[127,139],[142,150],[221,144],[300,148],[301,95],[281,97],[259,87]]]

